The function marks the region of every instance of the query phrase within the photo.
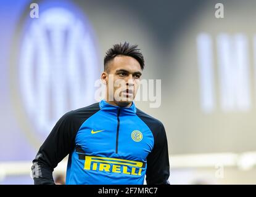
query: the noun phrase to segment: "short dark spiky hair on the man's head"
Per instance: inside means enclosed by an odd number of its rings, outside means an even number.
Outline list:
[[[144,57],[141,54],[140,49],[137,48],[138,45],[130,45],[129,42],[114,44],[114,46],[107,50],[104,57],[104,71],[107,71],[107,63],[114,59],[117,55],[126,55],[135,58],[139,65],[141,65],[141,70],[144,69]]]

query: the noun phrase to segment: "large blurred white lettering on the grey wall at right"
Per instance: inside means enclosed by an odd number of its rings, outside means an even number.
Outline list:
[[[242,33],[220,33],[216,38],[207,33],[197,36],[202,110],[212,113],[217,102],[226,112],[252,108],[250,73],[256,65],[256,36],[252,45],[254,51],[250,52],[249,38]],[[250,62],[251,54],[254,64]]]

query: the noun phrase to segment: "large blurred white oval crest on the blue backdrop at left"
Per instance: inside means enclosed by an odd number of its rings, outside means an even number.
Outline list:
[[[31,20],[19,61],[22,102],[44,137],[60,116],[94,102],[97,53],[91,29],[71,10],[52,7]]]

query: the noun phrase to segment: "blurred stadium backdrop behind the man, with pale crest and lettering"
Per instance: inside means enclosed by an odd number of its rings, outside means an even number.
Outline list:
[[[36,4],[33,4],[36,3]],[[221,3],[221,4],[218,4]],[[38,13],[36,13],[36,5]],[[97,102],[113,44],[138,44],[161,105],[171,184],[256,183],[256,1],[0,1],[0,184],[65,112]],[[67,160],[54,171],[63,183]]]

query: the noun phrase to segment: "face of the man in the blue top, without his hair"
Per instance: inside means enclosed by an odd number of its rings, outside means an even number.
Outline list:
[[[109,62],[105,73],[107,82],[107,97],[114,98],[113,102],[125,107],[129,105],[136,96],[139,82],[141,80],[141,66],[139,62],[130,56],[118,55]],[[104,75],[102,73],[102,75]],[[111,99],[107,99],[110,100]]]

